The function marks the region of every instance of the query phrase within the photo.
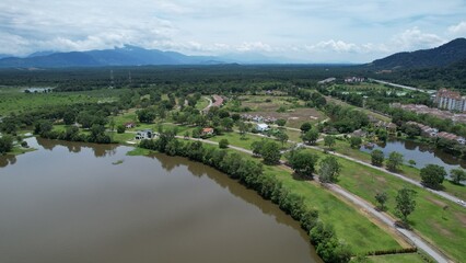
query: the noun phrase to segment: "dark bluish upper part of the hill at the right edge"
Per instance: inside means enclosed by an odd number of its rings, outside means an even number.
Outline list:
[[[397,53],[374,60],[365,67],[374,70],[433,68],[445,67],[464,59],[466,59],[466,38],[457,38],[431,49]]]

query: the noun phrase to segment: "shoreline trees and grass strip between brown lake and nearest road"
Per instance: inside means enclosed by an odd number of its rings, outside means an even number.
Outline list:
[[[255,190],[264,198],[278,204],[310,232],[311,242],[316,245],[317,253],[325,262],[348,262],[352,253],[369,253],[372,250],[387,248],[400,249],[396,241],[372,222],[361,225],[359,220],[366,219],[356,210],[346,208],[343,203],[321,186],[294,180],[290,170],[263,165],[251,157],[207,146],[200,141],[185,142],[176,139],[175,135],[175,130],[168,129],[161,133],[156,140],[142,140],[140,147],[170,156],[187,157],[214,167]],[[338,218],[343,215],[352,220],[340,221]],[[325,219],[319,220],[319,217]],[[341,232],[345,233],[343,239],[339,239]],[[360,235],[362,236],[358,237]],[[349,244],[351,248],[358,245],[349,250]]]

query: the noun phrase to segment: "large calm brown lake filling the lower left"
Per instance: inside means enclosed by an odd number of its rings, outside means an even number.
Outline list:
[[[38,150],[0,157],[2,263],[322,262],[298,222],[214,169],[27,141]]]

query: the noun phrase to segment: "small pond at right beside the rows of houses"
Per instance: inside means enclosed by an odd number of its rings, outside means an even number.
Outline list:
[[[455,168],[466,169],[466,160],[446,153],[428,144],[389,138],[387,142],[375,145],[373,149],[366,149],[364,147],[361,148],[361,150],[365,152],[371,152],[374,149],[382,150],[385,157],[388,157],[388,155],[393,151],[400,152],[406,162],[408,160],[415,160],[415,167],[419,169],[429,163],[444,167],[447,172]]]

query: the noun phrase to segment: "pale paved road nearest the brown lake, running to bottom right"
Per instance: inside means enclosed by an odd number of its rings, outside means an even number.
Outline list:
[[[177,138],[184,138],[183,136],[176,136]],[[211,141],[211,140],[206,140],[206,139],[197,139],[197,138],[189,138],[190,140],[199,140],[202,142],[207,142],[207,144],[211,144],[211,145],[219,145],[219,142],[217,141]],[[235,149],[238,150],[241,152],[247,153],[247,155],[253,155],[253,151],[241,148],[241,147],[235,147],[235,146],[229,146],[229,148],[231,149]],[[280,163],[283,165],[283,162],[280,161]],[[316,176],[316,180],[318,180],[318,178]],[[335,184],[326,184],[327,188],[330,190],[331,192],[340,195],[341,197],[348,199],[349,202],[351,202],[354,206],[364,209],[366,213],[369,213],[371,216],[373,216],[374,218],[378,219],[382,224],[387,225],[389,228],[395,229],[396,231],[400,232],[405,239],[409,240],[412,244],[415,244],[418,249],[424,251],[426,253],[428,253],[430,256],[432,256],[436,262],[439,263],[448,263],[451,262],[445,255],[443,255],[442,253],[440,253],[439,251],[436,251],[431,244],[427,243],[426,241],[423,241],[423,239],[421,237],[419,237],[418,235],[416,235],[412,231],[403,229],[403,228],[398,228],[395,227],[395,219],[393,219],[392,217],[389,217],[388,215],[384,214],[384,213],[380,213],[377,210],[374,209],[373,205],[370,204],[369,202],[360,198],[359,196],[341,188],[338,185]]]

